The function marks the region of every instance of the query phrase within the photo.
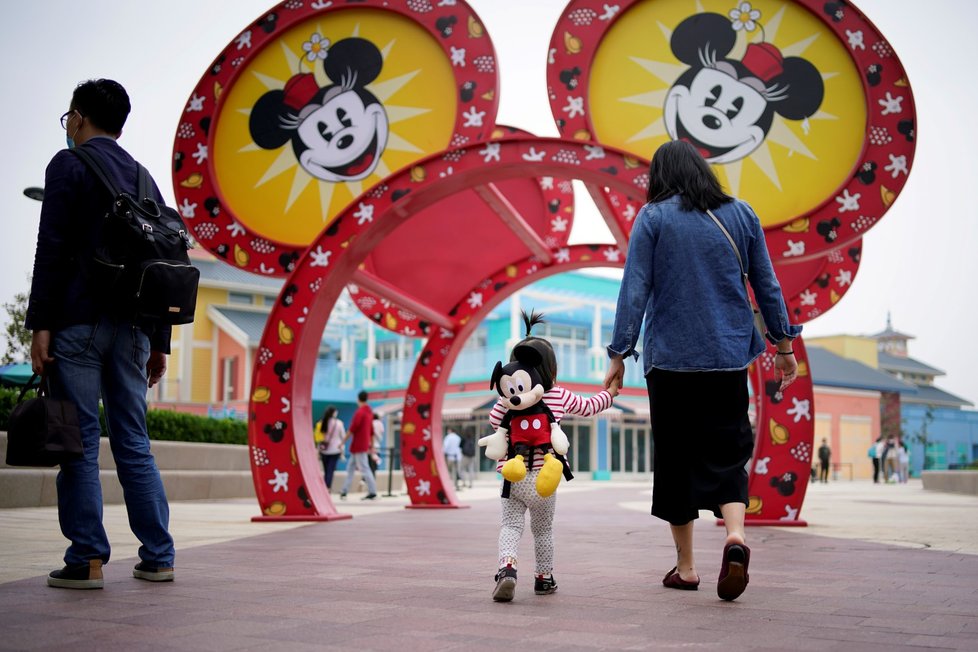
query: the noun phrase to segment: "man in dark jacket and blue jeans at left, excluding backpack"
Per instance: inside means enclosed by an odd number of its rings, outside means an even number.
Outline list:
[[[33,331],[34,371],[48,377],[52,397],[77,406],[84,447],[81,458],[65,462],[58,473],[58,519],[71,542],[64,568],[48,576],[48,585],[59,588],[102,588],[102,565],[109,561],[98,467],[100,399],[129,525],[142,544],[133,576],[173,579],[169,505],[146,431],[146,388],[166,371],[170,327],[135,318],[121,297],[91,282],[104,216],[114,198],[69,151],[84,145],[122,190],[136,195],[136,162],[116,142],[129,110],[129,96],[118,83],[79,84],[61,116],[69,149],[55,154],[45,173],[24,326]],[[163,203],[155,184],[153,195]]]

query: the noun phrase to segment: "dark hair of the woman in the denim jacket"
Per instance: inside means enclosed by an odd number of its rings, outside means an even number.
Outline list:
[[[646,201],[658,202],[674,195],[679,195],[685,211],[706,211],[733,201],[723,192],[706,159],[684,140],[670,140],[659,147],[649,165]]]

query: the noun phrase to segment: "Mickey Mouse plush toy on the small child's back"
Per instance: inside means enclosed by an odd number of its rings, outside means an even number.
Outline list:
[[[499,393],[506,415],[496,432],[480,439],[479,445],[486,447],[486,457],[491,460],[507,458],[501,470],[506,480],[504,498],[509,496],[509,483],[523,480],[527,466],[533,466],[534,454],[543,452],[544,463],[537,475],[536,488],[541,496],[550,496],[557,490],[561,475],[568,480],[573,477],[564,458],[570,444],[543,401],[553,381],[544,379],[540,373],[543,362],[540,352],[530,345],[517,346],[513,357],[507,365],[496,363],[489,383],[489,388]],[[551,447],[555,455],[549,453]]]

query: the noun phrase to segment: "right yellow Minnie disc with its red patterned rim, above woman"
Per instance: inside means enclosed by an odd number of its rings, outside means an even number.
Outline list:
[[[758,210],[776,265],[818,258],[861,238],[906,184],[916,147],[913,93],[889,43],[851,2],[746,4],[744,12],[742,3],[721,0],[623,0],[604,7],[571,0],[550,44],[551,111],[565,137],[637,151],[643,158],[669,138],[699,143],[708,157],[713,154],[708,160],[734,194]],[[726,21],[729,35],[718,35],[715,24],[687,29],[682,36],[690,47],[698,36],[712,37],[707,49],[713,52],[718,38],[729,38],[730,47],[715,52],[717,60],[745,66],[745,74],[782,87],[791,81],[797,89],[803,84],[778,76],[779,66],[789,57],[813,65],[826,88],[818,111],[804,122],[775,116],[768,131],[762,125],[745,129],[760,146],[736,160],[710,152],[719,144],[696,140],[695,130],[687,134],[681,120],[677,128],[667,119],[675,115],[669,103],[682,93],[672,91],[688,85],[705,64],[690,64],[695,57],[677,52],[670,37],[696,15],[701,22],[705,16]],[[648,38],[634,38],[635,29]],[[772,106],[789,99],[793,89],[775,93],[780,99]],[[717,126],[714,133],[741,133],[734,124]],[[816,181],[820,187],[810,188]],[[635,210],[627,194],[589,190],[602,210]]]

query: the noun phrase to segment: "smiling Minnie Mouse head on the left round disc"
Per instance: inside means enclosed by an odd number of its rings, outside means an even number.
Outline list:
[[[362,38],[337,41],[324,54],[333,83],[321,88],[313,73],[299,73],[282,90],[262,95],[249,118],[251,138],[263,149],[291,140],[299,164],[317,179],[364,179],[387,145],[387,113],[366,89],[380,74],[383,57]]]

